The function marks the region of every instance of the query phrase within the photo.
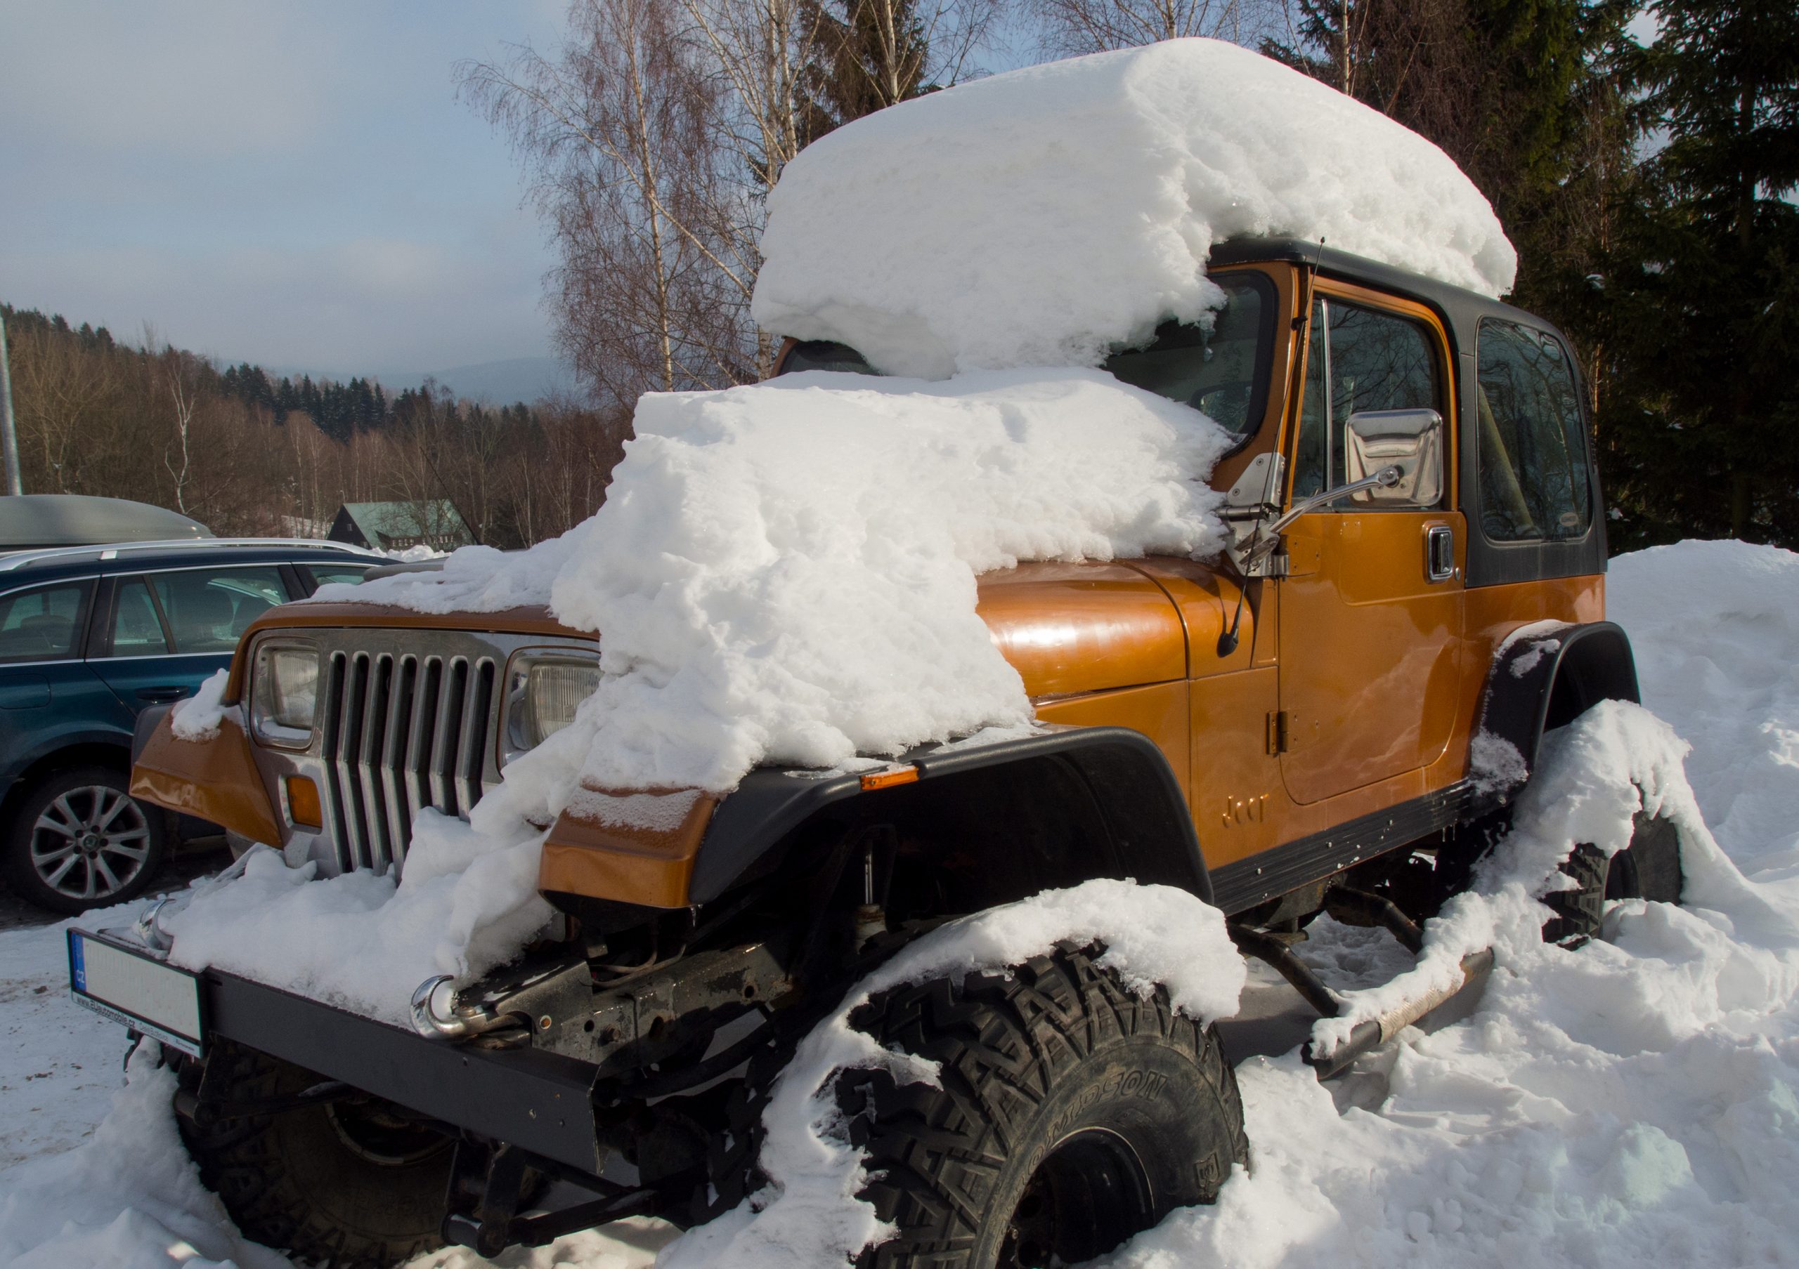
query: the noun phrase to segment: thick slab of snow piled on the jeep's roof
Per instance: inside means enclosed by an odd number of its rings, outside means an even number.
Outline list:
[[[808,146],[768,200],[754,315],[891,374],[1097,365],[1220,295],[1252,234],[1488,295],[1517,255],[1436,146],[1297,70],[1169,40],[876,111]]]

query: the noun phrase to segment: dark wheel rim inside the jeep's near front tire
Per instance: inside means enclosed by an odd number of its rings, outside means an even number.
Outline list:
[[[997,1269],[1047,1269],[1103,1256],[1150,1226],[1142,1159],[1117,1132],[1085,1129],[1056,1143],[1018,1195]]]

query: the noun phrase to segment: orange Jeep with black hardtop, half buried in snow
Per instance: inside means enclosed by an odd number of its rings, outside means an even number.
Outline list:
[[[1326,1014],[1337,998],[1292,953],[1311,917],[1416,951],[1540,735],[1637,699],[1605,622],[1585,390],[1551,325],[1425,277],[1274,239],[1218,246],[1211,275],[1229,297],[1211,329],[1169,322],[1106,368],[1234,435],[1214,476],[1232,541],[1211,563],[980,579],[1040,735],[871,773],[757,769],[660,829],[565,812],[540,872],[554,936],[482,981],[423,983],[414,1032],[228,972],[183,978],[157,960],[153,920],[149,949],[74,935],[77,992],[178,1062],[182,1132],[243,1231],[380,1265],[628,1213],[703,1220],[754,1190],[770,1080],[851,983],[952,917],[1045,888],[1182,886]],[[853,349],[790,342],[777,372],[804,368],[871,372]],[[281,608],[237,647],[218,737],[162,723],[131,791],[327,872],[403,868],[416,812],[466,816],[567,721],[549,696],[594,681],[595,658],[543,609]],[[268,705],[282,674],[317,676],[309,717]],[[1671,850],[1639,834],[1587,861],[1554,933],[1592,929],[1608,895],[1678,899]],[[1247,1158],[1216,1034],[1094,962],[1065,947],[856,1014],[943,1071],[842,1086],[864,1195],[896,1228],[864,1264],[1085,1260],[1213,1201]],[[547,1179],[592,1199],[540,1211]]]

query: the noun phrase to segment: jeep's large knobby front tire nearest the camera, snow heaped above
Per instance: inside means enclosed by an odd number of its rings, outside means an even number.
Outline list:
[[[941,1066],[937,1086],[838,1078],[867,1152],[862,1197],[898,1226],[862,1253],[864,1269],[1087,1260],[1216,1201],[1231,1165],[1249,1161],[1216,1034],[1160,989],[1135,996],[1088,951],[900,987],[851,1021]]]

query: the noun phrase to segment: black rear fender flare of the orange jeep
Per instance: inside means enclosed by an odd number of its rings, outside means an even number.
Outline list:
[[[1642,703],[1637,658],[1621,626],[1571,622],[1506,640],[1488,670],[1481,715],[1470,739],[1477,802],[1488,809],[1509,802],[1536,771],[1544,732],[1572,723],[1599,701]],[[1515,771],[1511,778],[1482,778],[1475,769],[1481,746],[1491,751],[1500,742],[1522,759],[1522,778]]]

